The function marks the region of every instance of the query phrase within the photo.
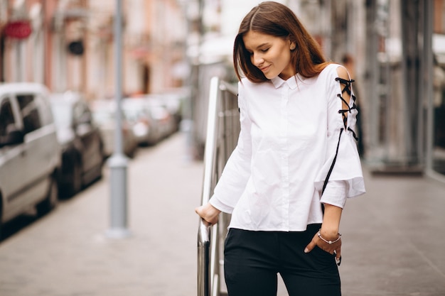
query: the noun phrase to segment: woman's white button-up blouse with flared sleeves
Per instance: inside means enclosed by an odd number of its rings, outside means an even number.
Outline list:
[[[349,109],[345,128],[337,67],[328,65],[312,78],[238,84],[241,132],[210,199],[232,214],[229,227],[305,231],[323,221],[321,203],[343,208],[347,197],[365,193],[353,133],[357,110]]]

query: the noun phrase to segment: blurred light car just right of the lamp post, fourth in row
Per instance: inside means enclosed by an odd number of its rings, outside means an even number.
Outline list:
[[[139,145],[155,145],[161,140],[162,135],[158,121],[154,118],[146,99],[123,99],[122,111],[127,117]]]

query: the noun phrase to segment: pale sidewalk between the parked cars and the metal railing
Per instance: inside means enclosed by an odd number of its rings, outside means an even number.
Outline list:
[[[178,133],[142,148],[128,169],[128,239],[108,239],[108,172],[0,243],[1,296],[196,295],[202,163]]]

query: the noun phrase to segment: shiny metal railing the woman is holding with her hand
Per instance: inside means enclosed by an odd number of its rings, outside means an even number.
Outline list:
[[[210,80],[208,126],[204,150],[204,179],[201,204],[213,194],[225,163],[237,144],[240,133],[240,112],[237,87],[213,77]],[[203,219],[198,229],[198,296],[222,294],[223,242],[230,215],[221,213],[217,224],[210,226]]]

